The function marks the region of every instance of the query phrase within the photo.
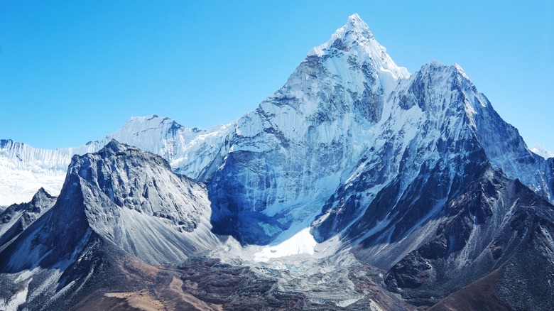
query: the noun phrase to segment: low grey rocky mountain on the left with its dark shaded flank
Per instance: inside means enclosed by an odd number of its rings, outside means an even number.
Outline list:
[[[158,155],[111,141],[75,155],[53,207],[1,251],[1,295],[24,293],[23,306],[63,308],[60,295],[81,297],[122,258],[179,263],[217,247],[209,219],[205,186],[176,175]]]

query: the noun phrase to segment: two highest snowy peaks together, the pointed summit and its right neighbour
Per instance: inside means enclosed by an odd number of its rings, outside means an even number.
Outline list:
[[[528,151],[460,66],[433,61],[410,76],[357,15],[239,119],[227,141],[229,153],[208,183],[213,222],[245,244],[286,239],[298,222],[309,227],[323,205],[316,224],[335,222],[329,213],[346,216],[332,231],[325,227],[325,240],[391,183],[398,200],[425,169],[445,180],[437,202],[452,183],[472,180],[467,165],[487,160],[552,197],[551,167]],[[336,208],[342,204],[355,210]]]

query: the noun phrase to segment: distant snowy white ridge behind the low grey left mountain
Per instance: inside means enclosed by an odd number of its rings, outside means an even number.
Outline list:
[[[0,140],[0,206],[28,202],[40,187],[58,195],[72,156],[99,151],[112,139],[162,155],[178,173],[197,178],[217,155],[228,130],[224,125],[189,129],[153,114],[132,117],[118,131],[76,148],[48,150]]]

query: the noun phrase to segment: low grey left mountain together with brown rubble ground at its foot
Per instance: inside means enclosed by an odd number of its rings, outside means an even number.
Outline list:
[[[305,271],[225,256],[240,249],[232,238],[222,237],[224,244],[211,234],[205,200],[203,185],[138,148],[112,141],[97,153],[75,155],[54,206],[0,251],[0,307],[412,308],[384,290],[384,271],[349,254],[303,258],[310,259]],[[206,257],[212,250],[232,263]]]

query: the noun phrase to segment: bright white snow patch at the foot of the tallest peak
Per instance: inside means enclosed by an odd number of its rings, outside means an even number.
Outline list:
[[[310,228],[299,231],[290,239],[275,246],[264,246],[254,253],[255,261],[268,261],[270,258],[280,258],[299,254],[313,255],[317,242],[310,234]]]

